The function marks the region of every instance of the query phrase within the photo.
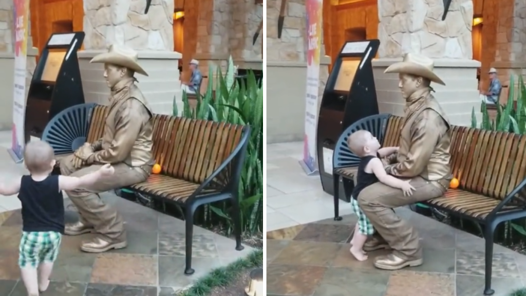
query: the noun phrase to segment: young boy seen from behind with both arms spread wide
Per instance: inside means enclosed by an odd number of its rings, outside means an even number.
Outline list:
[[[22,203],[22,240],[18,265],[28,296],[38,296],[49,285],[60,239],[64,234],[64,198],[62,190],[84,188],[114,173],[106,164],[82,177],[50,175],[55,165],[53,148],[46,142],[29,142],[24,162],[31,175],[11,184],[0,184],[0,194],[14,195]],[[39,274],[37,275],[37,268]]]

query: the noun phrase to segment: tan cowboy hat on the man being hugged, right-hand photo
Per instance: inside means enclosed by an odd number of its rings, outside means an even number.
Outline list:
[[[446,85],[437,74],[433,73],[434,62],[431,58],[419,54],[408,53],[402,62],[390,65],[383,73],[404,73],[428,78],[432,82]]]

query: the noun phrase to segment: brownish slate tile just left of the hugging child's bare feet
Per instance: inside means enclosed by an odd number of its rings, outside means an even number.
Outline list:
[[[336,243],[291,241],[274,263],[329,266],[340,248]]]

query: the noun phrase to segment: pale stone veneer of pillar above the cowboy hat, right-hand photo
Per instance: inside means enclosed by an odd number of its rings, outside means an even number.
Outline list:
[[[441,0],[379,0],[380,57],[421,53],[431,58],[472,58],[473,2],[452,0],[441,21]]]

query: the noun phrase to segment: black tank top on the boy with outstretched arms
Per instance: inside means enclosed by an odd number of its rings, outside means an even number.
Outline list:
[[[64,234],[64,197],[58,175],[42,181],[22,176],[18,199],[22,203],[23,231],[56,231]]]

